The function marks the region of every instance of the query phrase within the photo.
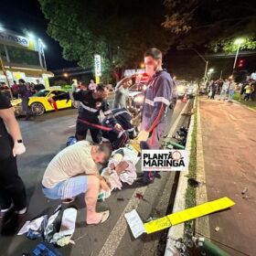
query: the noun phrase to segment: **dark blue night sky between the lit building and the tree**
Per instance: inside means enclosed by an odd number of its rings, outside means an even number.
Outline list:
[[[48,21],[40,10],[37,0],[10,0],[1,1],[0,24],[6,29],[16,32],[33,33],[40,37],[47,48],[45,55],[48,70],[76,67],[77,63],[62,59],[59,43],[47,34]]]

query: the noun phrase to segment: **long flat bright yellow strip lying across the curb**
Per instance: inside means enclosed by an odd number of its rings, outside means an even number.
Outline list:
[[[187,208],[185,210],[169,214],[161,219],[155,219],[151,222],[144,223],[144,228],[146,229],[147,234],[154,233],[156,231],[180,224],[187,220],[196,219],[208,215],[209,213],[232,207],[234,205],[235,202],[229,199],[229,197],[222,197],[218,200],[214,200],[194,208]]]

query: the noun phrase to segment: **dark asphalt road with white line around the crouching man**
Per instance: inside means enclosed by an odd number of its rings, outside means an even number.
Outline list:
[[[111,99],[112,100],[112,99]],[[185,103],[178,101],[170,126],[183,110]],[[48,200],[41,192],[40,182],[49,161],[65,147],[69,135],[75,133],[77,110],[69,109],[59,112],[48,112],[37,117],[35,121],[19,120],[23,140],[27,146],[25,155],[18,157],[19,174],[27,187],[29,208],[26,216],[19,220],[22,225],[27,219],[34,219],[43,213],[51,214],[59,205],[59,200]],[[88,134],[91,141],[90,133]],[[140,165],[137,166],[140,172]],[[141,255],[145,245],[152,243],[159,237],[144,235],[134,240],[131,231],[123,220],[123,213],[137,208],[142,219],[152,214],[165,215],[163,207],[159,205],[159,198],[165,194],[165,189],[172,190],[175,174],[163,174],[161,179],[155,180],[149,187],[123,187],[122,191],[115,191],[112,197],[97,206],[99,210],[111,209],[111,219],[96,227],[85,227],[85,204],[83,196],[77,197],[74,206],[79,209],[76,231],[73,239],[75,245],[59,249],[63,255]],[[134,197],[135,192],[142,192],[145,200]],[[118,200],[117,198],[123,198]],[[168,200],[168,198],[167,198]],[[158,209],[157,209],[158,206]],[[66,207],[65,207],[66,208]],[[165,206],[166,210],[166,206]],[[37,240],[28,240],[25,236],[1,236],[0,255],[22,255],[32,251]]]

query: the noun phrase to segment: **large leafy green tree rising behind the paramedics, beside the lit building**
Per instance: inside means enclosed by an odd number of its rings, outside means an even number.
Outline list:
[[[161,23],[164,5],[154,0],[39,0],[48,19],[48,34],[59,41],[63,57],[93,67],[94,54],[102,58],[102,80],[123,69],[138,68],[147,48],[168,49]]]

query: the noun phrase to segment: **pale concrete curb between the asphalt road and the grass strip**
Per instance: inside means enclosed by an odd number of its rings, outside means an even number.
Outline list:
[[[196,102],[197,101],[195,99],[193,104],[193,109],[195,109]],[[190,119],[190,125],[188,128],[188,133],[187,133],[186,150],[188,152],[188,159],[190,157],[190,151],[191,151],[191,138],[192,138],[192,132],[194,129],[194,120],[195,120],[195,117],[194,115],[192,115]],[[188,172],[181,172],[179,175],[173,212],[177,212],[186,208],[187,174]],[[166,240],[165,256],[179,255],[179,251],[177,251],[175,244],[176,244],[176,240],[183,238],[183,236],[184,236],[184,223],[178,224],[169,229],[167,240]]]

